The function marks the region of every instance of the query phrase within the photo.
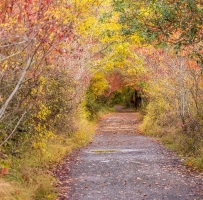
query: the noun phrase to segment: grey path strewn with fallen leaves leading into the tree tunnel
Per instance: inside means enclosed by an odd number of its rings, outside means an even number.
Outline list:
[[[203,176],[139,134],[137,114],[105,116],[93,142],[56,171],[60,200],[203,200]],[[88,130],[87,130],[88,131]]]

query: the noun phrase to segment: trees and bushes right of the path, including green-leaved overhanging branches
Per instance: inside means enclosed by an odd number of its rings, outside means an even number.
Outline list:
[[[122,34],[139,35],[148,105],[143,131],[203,168],[201,1],[114,1]],[[146,47],[147,46],[147,47]]]

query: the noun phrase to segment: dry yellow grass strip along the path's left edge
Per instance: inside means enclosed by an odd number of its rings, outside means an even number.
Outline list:
[[[24,153],[11,157],[9,172],[0,178],[0,199],[55,200],[56,179],[50,167],[73,149],[88,144],[94,133],[94,123],[81,120],[79,127],[74,134],[59,134],[51,139],[44,152],[26,151],[25,146]]]

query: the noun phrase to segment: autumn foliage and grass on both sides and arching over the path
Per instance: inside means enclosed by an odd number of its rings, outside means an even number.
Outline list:
[[[47,169],[118,103],[203,169],[202,17],[198,0],[0,1],[0,196],[54,199]]]

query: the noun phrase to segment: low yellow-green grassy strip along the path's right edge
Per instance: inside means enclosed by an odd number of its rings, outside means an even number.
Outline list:
[[[173,117],[172,120],[176,119]],[[163,121],[164,118],[154,119],[148,113],[143,117],[140,129],[145,135],[155,137],[167,148],[175,151],[182,158],[183,164],[203,171],[203,141],[197,142],[195,133],[192,137],[188,136],[183,132],[182,127]]]

